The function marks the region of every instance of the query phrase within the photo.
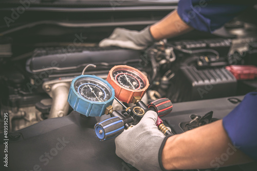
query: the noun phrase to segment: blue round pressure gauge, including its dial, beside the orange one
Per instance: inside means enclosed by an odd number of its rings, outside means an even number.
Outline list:
[[[80,75],[71,81],[68,102],[70,106],[86,116],[102,116],[114,100],[114,88],[102,78]]]

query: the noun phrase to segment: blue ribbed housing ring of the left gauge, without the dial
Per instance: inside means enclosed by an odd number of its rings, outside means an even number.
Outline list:
[[[75,87],[74,87],[75,82],[81,78],[93,78],[103,82],[103,84],[105,84],[111,90],[111,93],[112,93],[111,98],[103,102],[90,101],[85,99],[75,90]],[[74,111],[77,111],[85,116],[96,117],[96,116],[102,116],[104,114],[105,108],[109,105],[112,105],[114,100],[114,95],[115,95],[114,88],[111,86],[111,84],[109,84],[104,79],[99,78],[95,75],[80,75],[71,81],[69,95],[68,95],[68,102],[70,106],[74,109]]]

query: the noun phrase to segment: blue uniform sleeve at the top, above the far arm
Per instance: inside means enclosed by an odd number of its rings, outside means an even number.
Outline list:
[[[253,4],[252,0],[241,3],[231,0],[180,0],[177,12],[186,24],[196,30],[213,32]]]

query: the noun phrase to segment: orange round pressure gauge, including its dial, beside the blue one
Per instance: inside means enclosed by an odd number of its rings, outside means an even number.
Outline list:
[[[149,80],[141,71],[125,65],[113,67],[106,80],[114,88],[115,97],[126,103],[131,103],[134,96],[143,97],[149,87]]]

